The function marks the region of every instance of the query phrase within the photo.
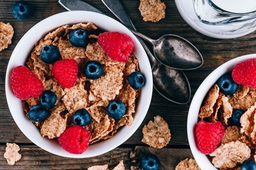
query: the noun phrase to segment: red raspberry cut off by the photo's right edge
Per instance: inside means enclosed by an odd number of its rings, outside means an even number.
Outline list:
[[[236,64],[232,77],[237,84],[256,88],[256,58]]]

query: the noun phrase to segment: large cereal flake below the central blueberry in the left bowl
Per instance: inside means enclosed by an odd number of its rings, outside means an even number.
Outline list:
[[[99,79],[91,80],[92,93],[103,101],[112,100],[119,94],[123,86],[123,73],[119,65],[105,67],[105,74]],[[111,81],[110,81],[111,80]]]

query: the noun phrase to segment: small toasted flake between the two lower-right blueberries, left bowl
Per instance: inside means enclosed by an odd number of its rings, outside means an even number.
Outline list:
[[[87,111],[90,113],[92,118],[97,123],[100,123],[100,119],[103,118],[107,113],[106,107],[107,107],[106,101],[98,101],[97,103],[95,103],[92,106],[90,106],[89,108],[87,108]]]

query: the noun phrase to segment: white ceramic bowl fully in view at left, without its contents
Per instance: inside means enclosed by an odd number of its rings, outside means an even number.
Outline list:
[[[137,104],[137,110],[134,116],[134,122],[131,126],[125,126],[119,132],[117,132],[114,137],[109,140],[102,142],[97,142],[93,145],[90,145],[83,154],[70,154],[66,152],[58,142],[54,140],[48,140],[46,137],[42,137],[39,130],[31,123],[28,118],[23,113],[21,100],[16,98],[11,91],[10,86],[10,72],[14,67],[25,64],[26,58],[30,55],[34,44],[40,40],[43,35],[48,33],[50,30],[54,30],[59,26],[63,26],[68,23],[80,23],[80,22],[92,22],[96,26],[102,28],[103,30],[119,31],[129,35],[134,41],[134,55],[136,55],[139,60],[139,67],[141,72],[144,74],[146,79],[146,84],[142,88],[142,94],[139,98]],[[132,134],[139,128],[142,120],[148,111],[151,95],[153,90],[153,79],[151,74],[151,67],[149,60],[146,56],[144,48],[139,43],[137,38],[121,23],[115,21],[113,18],[102,15],[100,13],[94,13],[89,11],[69,11],[64,13],[58,13],[54,16],[50,16],[43,21],[33,26],[28,32],[21,38],[21,40],[16,45],[14,52],[11,55],[9,64],[6,70],[6,98],[18,128],[21,129],[24,135],[28,137],[31,142],[38,145],[42,149],[45,149],[48,152],[57,154],[63,157],[75,157],[75,158],[85,158],[85,157],[94,157],[105,152],[118,147],[123,142],[129,139]]]

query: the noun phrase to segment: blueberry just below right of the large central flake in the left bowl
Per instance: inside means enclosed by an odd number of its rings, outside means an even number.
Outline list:
[[[110,101],[107,106],[107,114],[110,115],[111,118],[118,120],[123,117],[126,112],[125,105],[122,101],[114,100]]]

